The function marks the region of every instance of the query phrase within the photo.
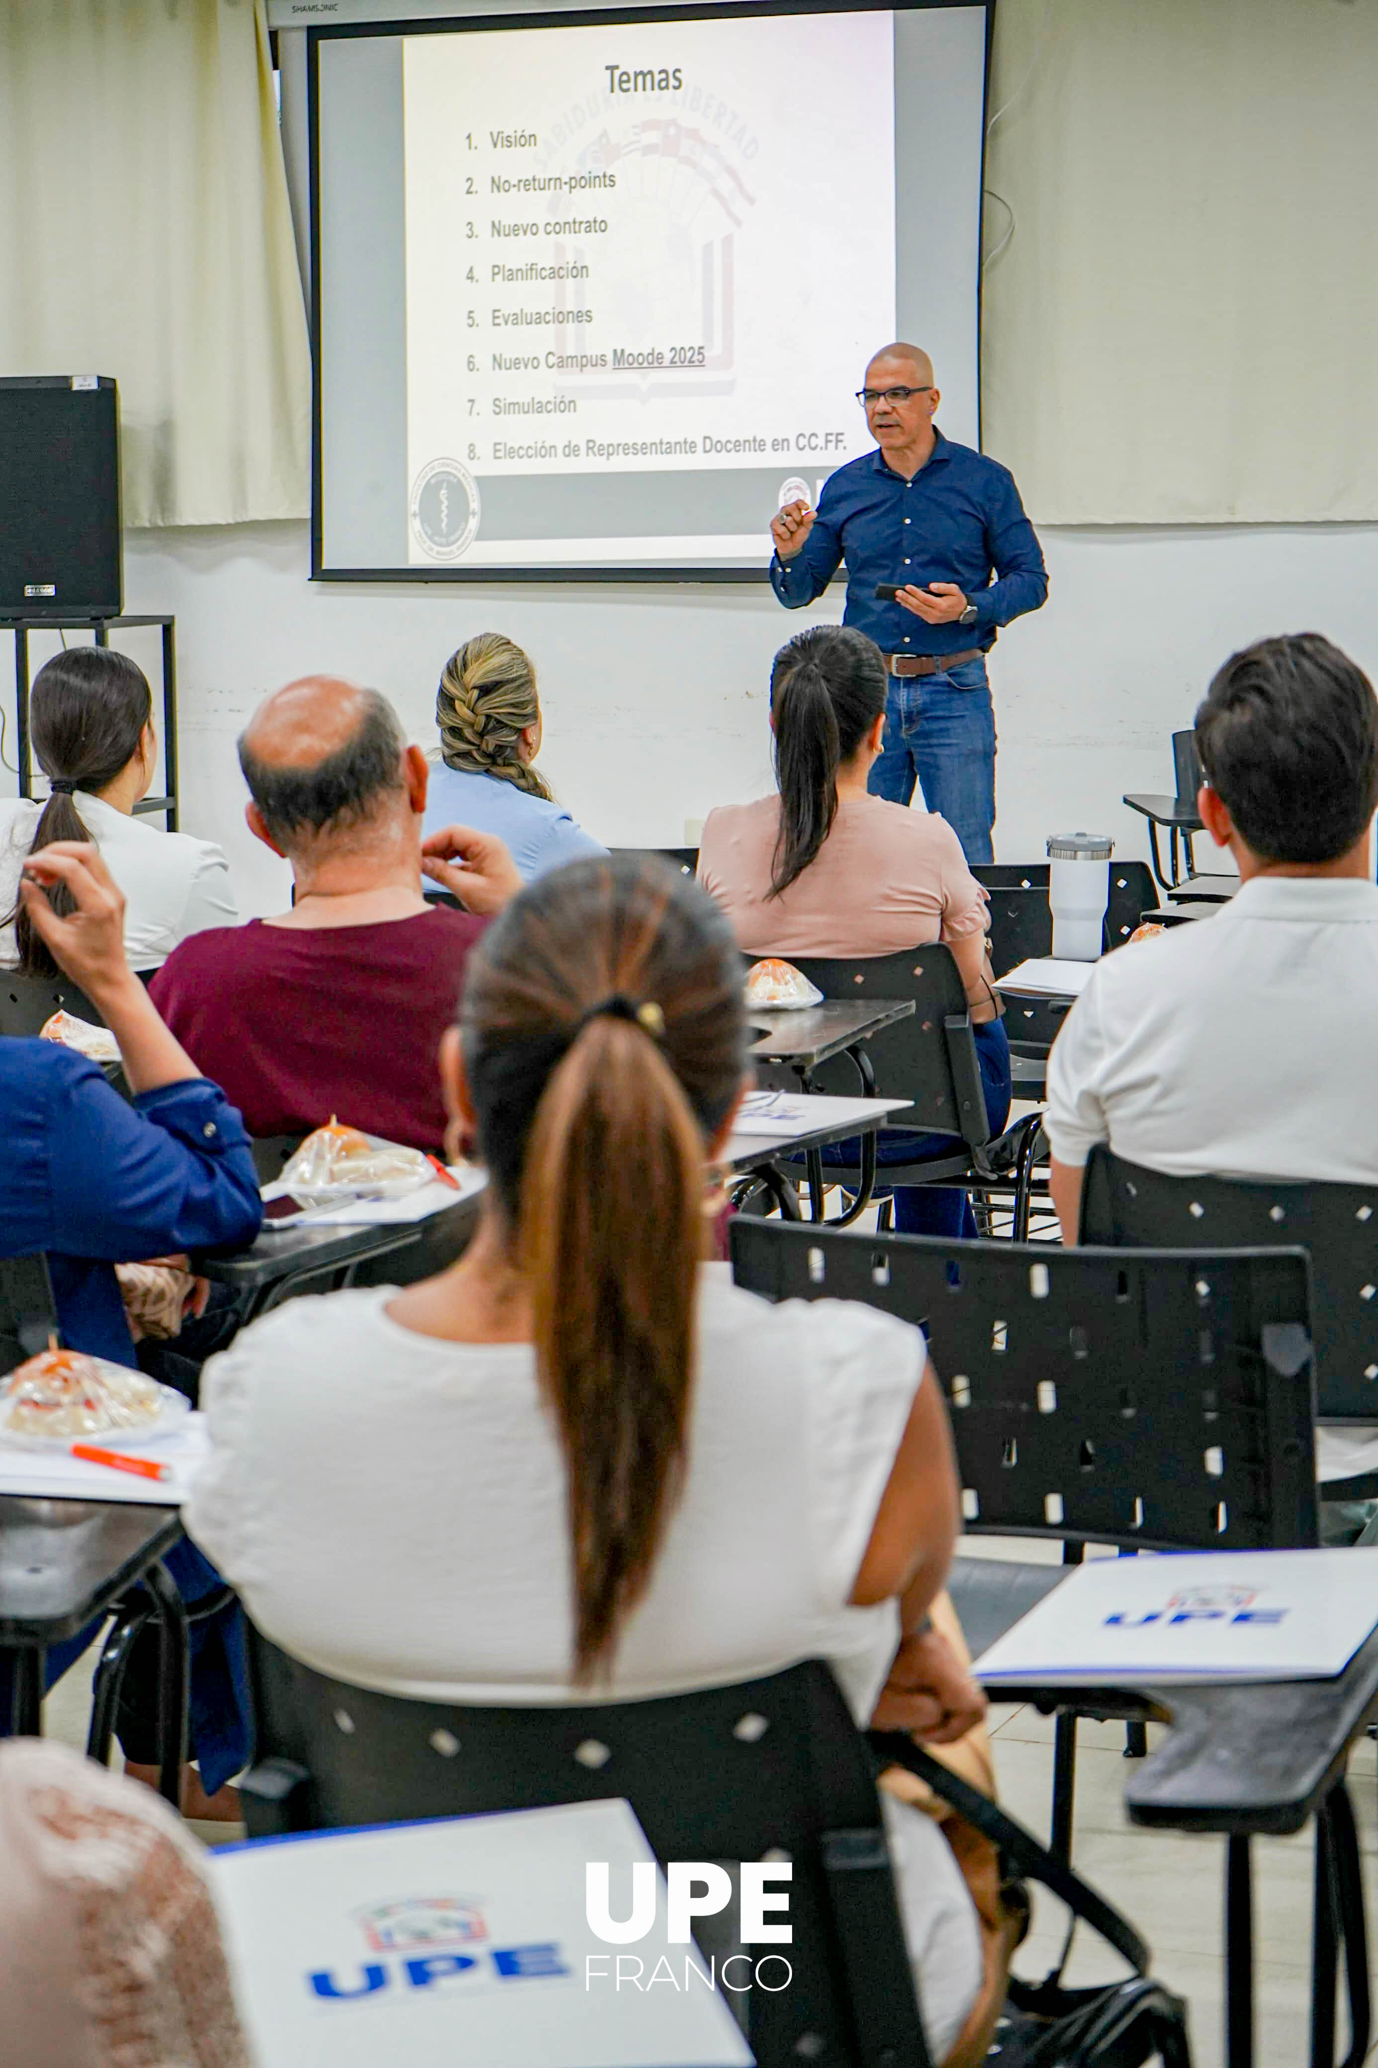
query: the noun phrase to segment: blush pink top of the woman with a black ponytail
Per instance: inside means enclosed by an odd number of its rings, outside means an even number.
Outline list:
[[[769,898],[779,796],[711,811],[698,881],[748,955],[892,955],[985,933],[988,895],[946,819],[882,796],[839,798],[808,869]]]

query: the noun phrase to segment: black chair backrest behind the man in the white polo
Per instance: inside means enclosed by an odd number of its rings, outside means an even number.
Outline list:
[[[1081,1228],[1116,1247],[1297,1243],[1312,1259],[1316,1412],[1378,1423],[1378,1185],[1165,1177],[1099,1144]]]

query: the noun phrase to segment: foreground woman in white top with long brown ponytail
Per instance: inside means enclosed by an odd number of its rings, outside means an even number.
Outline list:
[[[488,1164],[465,1255],[289,1301],[207,1365],[186,1522],[254,1623],[436,1702],[634,1700],[822,1656],[866,1723],[963,1735],[928,1630],[957,1477],[917,1328],[769,1305],[704,1268],[746,1067],[740,957],[655,860],[527,887],[442,1046],[450,1148]],[[882,1696],[882,1690],[884,1696]],[[971,2010],[975,1911],[895,1803],[934,2060]]]

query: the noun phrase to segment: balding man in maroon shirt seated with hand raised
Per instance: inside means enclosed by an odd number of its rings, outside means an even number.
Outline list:
[[[151,984],[157,1009],[250,1135],[339,1115],[442,1150],[436,1053],[469,949],[521,889],[506,848],[452,827],[421,852],[426,757],[374,689],[289,682],[254,711],[240,767],[250,831],[291,862],[293,906],[184,941]],[[467,910],[426,904],[424,875]]]

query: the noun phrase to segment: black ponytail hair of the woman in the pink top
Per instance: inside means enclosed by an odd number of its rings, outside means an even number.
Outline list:
[[[880,647],[853,625],[814,625],[771,668],[781,823],[771,898],[789,889],[833,831],[837,771],[884,713]]]

